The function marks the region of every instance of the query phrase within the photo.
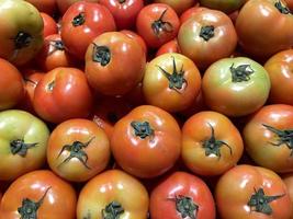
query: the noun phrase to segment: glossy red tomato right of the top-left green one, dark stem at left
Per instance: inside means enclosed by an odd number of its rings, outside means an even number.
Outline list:
[[[64,14],[60,34],[68,51],[83,60],[88,46],[97,36],[115,30],[114,18],[104,5],[80,1]]]

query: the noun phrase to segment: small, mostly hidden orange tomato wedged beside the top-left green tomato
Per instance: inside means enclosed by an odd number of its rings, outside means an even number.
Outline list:
[[[43,71],[50,71],[58,67],[74,67],[78,61],[65,49],[59,34],[45,38],[44,46],[36,57],[37,65]]]

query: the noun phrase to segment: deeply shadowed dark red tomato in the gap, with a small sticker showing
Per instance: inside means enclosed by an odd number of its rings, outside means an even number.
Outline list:
[[[111,138],[115,123],[131,110],[131,104],[125,100],[106,96],[98,101],[91,118]]]

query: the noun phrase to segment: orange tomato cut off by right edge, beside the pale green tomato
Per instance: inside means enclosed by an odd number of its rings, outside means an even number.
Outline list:
[[[271,79],[270,103],[293,105],[293,49],[280,51],[264,65]]]

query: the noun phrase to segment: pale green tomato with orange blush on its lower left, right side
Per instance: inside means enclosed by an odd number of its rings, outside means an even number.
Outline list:
[[[202,90],[205,103],[227,116],[244,116],[259,110],[270,92],[266,69],[246,57],[224,58],[206,69]]]

